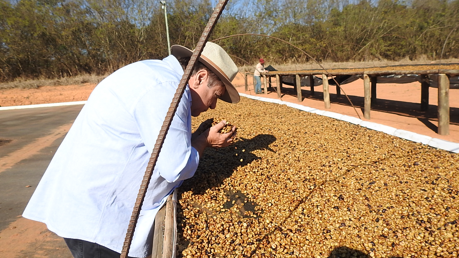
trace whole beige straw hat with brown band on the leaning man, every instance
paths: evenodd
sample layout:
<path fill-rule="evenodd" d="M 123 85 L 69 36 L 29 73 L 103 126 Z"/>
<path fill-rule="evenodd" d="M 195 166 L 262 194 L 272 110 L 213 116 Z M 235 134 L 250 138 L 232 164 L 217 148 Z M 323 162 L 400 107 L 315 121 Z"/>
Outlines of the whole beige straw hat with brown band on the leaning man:
<path fill-rule="evenodd" d="M 171 46 L 171 53 L 177 59 L 182 57 L 189 57 L 193 54 L 193 50 L 190 50 L 181 45 Z M 237 74 L 237 66 L 229 57 L 223 48 L 215 43 L 207 42 L 202 50 L 202 54 L 199 57 L 199 62 L 202 62 L 207 68 L 209 68 L 218 78 L 223 82 L 226 87 L 225 93 L 220 97 L 222 101 L 229 103 L 239 102 L 239 93 L 236 88 L 231 84 Z"/>

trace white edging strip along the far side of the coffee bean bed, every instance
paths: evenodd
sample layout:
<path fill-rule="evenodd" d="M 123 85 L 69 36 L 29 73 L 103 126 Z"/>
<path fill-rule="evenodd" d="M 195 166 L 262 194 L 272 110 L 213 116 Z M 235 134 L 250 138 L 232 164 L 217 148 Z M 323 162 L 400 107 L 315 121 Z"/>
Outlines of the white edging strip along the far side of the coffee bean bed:
<path fill-rule="evenodd" d="M 459 153 L 459 143 L 451 142 L 451 141 L 448 141 L 448 140 L 441 140 L 441 139 L 437 139 L 437 138 L 432 138 L 432 137 L 427 136 L 427 135 L 420 135 L 420 134 L 413 133 L 413 132 L 410 132 L 410 131 L 406 131 L 406 130 L 397 129 L 397 128 L 394 128 L 394 127 L 391 127 L 391 126 L 387 126 L 387 125 L 384 125 L 384 124 L 373 123 L 373 122 L 369 122 L 369 121 L 363 121 L 362 119 L 354 118 L 354 117 L 351 117 L 351 116 L 342 115 L 342 114 L 339 114 L 339 113 L 320 110 L 320 109 L 315 109 L 315 108 L 312 108 L 312 107 L 306 107 L 306 106 L 303 106 L 303 105 L 299 105 L 299 104 L 291 103 L 291 102 L 287 102 L 287 101 L 280 101 L 278 99 L 270 99 L 270 98 L 265 98 L 265 97 L 260 97 L 260 96 L 252 96 L 252 95 L 247 95 L 247 94 L 244 94 L 244 93 L 239 93 L 239 95 L 244 96 L 244 97 L 249 98 L 249 99 L 253 99 L 253 100 L 277 103 L 277 104 L 280 104 L 280 105 L 286 105 L 288 107 L 293 107 L 293 108 L 296 108 L 296 109 L 299 109 L 299 110 L 302 110 L 302 111 L 315 113 L 315 114 L 318 114 L 318 115 L 321 115 L 321 116 L 326 116 L 326 117 L 329 117 L 329 118 L 335 118 L 335 119 L 346 121 L 346 122 L 353 123 L 353 124 L 358 124 L 360 126 L 368 128 L 368 129 L 373 129 L 375 131 L 380 131 L 380 132 L 386 133 L 388 135 L 396 136 L 396 137 L 403 138 L 403 139 L 406 139 L 406 140 L 411 140 L 411 141 L 414 141 L 414 142 L 420 142 L 422 144 L 429 145 L 429 146 L 432 146 L 434 148 L 438 148 L 438 149 L 442 149 L 442 150 L 446 150 L 446 151 L 451 151 L 451 152 L 454 152 L 454 153 Z"/>

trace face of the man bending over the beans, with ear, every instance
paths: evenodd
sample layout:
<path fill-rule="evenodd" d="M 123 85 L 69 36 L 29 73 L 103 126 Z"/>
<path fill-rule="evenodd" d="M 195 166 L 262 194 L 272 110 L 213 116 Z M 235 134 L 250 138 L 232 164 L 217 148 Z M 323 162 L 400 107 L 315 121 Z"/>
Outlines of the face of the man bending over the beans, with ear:
<path fill-rule="evenodd" d="M 223 84 L 209 88 L 207 86 L 208 80 L 208 72 L 200 70 L 188 81 L 191 90 L 191 115 L 193 117 L 199 116 L 209 108 L 214 109 L 217 105 L 217 99 L 225 93 L 226 88 L 222 86 Z"/>

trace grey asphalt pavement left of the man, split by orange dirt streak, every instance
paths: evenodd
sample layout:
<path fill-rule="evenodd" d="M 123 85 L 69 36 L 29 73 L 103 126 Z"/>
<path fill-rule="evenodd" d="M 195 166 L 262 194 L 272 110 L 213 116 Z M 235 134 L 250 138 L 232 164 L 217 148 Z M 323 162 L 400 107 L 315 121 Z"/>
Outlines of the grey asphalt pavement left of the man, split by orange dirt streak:
<path fill-rule="evenodd" d="M 0 111 L 0 139 L 11 140 L 0 146 L 0 157 L 50 134 L 59 126 L 72 123 L 82 107 L 74 105 Z M 0 230 L 22 214 L 64 136 L 0 173 Z"/>

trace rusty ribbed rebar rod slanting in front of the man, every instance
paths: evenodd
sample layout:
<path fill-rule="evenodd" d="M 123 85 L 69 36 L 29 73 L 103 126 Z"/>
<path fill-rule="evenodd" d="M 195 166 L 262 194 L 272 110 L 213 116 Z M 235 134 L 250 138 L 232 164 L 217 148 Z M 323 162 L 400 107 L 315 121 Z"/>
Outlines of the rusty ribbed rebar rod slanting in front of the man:
<path fill-rule="evenodd" d="M 137 199 L 135 200 L 134 209 L 132 211 L 131 219 L 129 221 L 128 230 L 126 232 L 126 237 L 124 239 L 123 250 L 121 251 L 120 258 L 126 258 L 129 253 L 129 248 L 131 246 L 132 237 L 134 236 L 135 225 L 137 224 L 137 219 L 139 219 L 140 209 L 142 207 L 142 203 L 145 199 L 146 190 L 148 188 L 148 184 L 150 183 L 151 174 L 153 173 L 153 169 L 155 168 L 159 152 L 161 151 L 162 144 L 164 143 L 164 139 L 168 133 L 168 129 L 172 123 L 172 119 L 174 118 L 174 114 L 177 111 L 177 107 L 179 106 L 180 99 L 185 91 L 186 85 L 188 84 L 188 80 L 190 80 L 191 72 L 193 71 L 196 61 L 198 60 L 199 56 L 201 56 L 202 50 L 207 43 L 207 40 L 210 37 L 210 34 L 215 27 L 215 24 L 218 21 L 218 18 L 222 14 L 224 7 L 226 6 L 228 0 L 219 0 L 217 6 L 214 8 L 212 16 L 207 22 L 206 28 L 202 32 L 201 38 L 199 39 L 196 48 L 193 52 L 193 55 L 190 58 L 190 62 L 186 66 L 185 72 L 180 80 L 179 87 L 175 92 L 174 98 L 172 99 L 171 105 L 168 109 L 166 114 L 166 118 L 162 123 L 161 130 L 159 132 L 158 138 L 155 143 L 155 147 L 151 153 L 150 160 L 146 167 L 145 175 L 142 179 L 142 183 L 140 185 L 139 194 L 137 195 Z"/>

